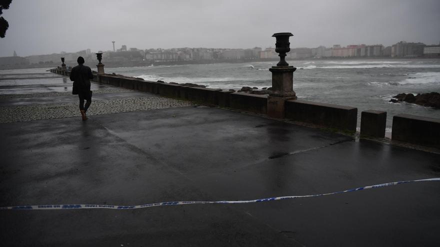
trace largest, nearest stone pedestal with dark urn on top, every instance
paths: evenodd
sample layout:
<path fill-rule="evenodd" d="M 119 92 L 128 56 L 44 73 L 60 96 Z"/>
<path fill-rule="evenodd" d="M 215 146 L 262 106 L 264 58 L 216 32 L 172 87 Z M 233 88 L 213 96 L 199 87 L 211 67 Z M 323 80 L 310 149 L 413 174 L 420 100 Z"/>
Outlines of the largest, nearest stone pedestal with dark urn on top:
<path fill-rule="evenodd" d="M 274 33 L 276 38 L 275 52 L 279 53 L 279 62 L 276 66 L 269 68 L 272 72 L 272 90 L 267 97 L 267 115 L 274 118 L 284 118 L 284 104 L 286 100 L 296 99 L 293 91 L 293 66 L 288 66 L 285 61 L 286 52 L 290 51 L 289 37 L 293 36 L 290 32 Z"/>

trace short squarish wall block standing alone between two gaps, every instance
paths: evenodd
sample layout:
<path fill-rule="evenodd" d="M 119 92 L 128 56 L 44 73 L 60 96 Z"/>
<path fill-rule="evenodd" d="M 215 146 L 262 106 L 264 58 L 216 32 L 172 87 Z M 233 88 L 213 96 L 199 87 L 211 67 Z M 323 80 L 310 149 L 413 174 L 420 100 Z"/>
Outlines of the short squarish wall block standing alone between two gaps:
<path fill-rule="evenodd" d="M 367 110 L 360 114 L 360 135 L 385 137 L 386 111 Z"/>

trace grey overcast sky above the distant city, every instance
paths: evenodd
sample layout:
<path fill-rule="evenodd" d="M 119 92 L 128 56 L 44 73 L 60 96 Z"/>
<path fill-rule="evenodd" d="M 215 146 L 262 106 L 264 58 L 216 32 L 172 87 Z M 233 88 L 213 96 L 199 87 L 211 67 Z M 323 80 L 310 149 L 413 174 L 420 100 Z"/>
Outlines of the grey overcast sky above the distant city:
<path fill-rule="evenodd" d="M 438 44 L 440 0 L 12 0 L 0 56 L 90 48 Z"/>

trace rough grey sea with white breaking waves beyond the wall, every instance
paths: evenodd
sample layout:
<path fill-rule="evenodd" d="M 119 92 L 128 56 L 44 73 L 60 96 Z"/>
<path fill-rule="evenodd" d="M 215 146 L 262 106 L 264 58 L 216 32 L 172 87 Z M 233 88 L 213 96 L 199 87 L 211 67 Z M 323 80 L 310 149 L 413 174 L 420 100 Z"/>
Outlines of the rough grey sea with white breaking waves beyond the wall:
<path fill-rule="evenodd" d="M 295 60 L 293 89 L 299 99 L 387 112 L 387 131 L 392 116 L 405 113 L 440 119 L 440 109 L 410 103 L 390 103 L 398 93 L 440 92 L 440 59 Z M 177 83 L 203 84 L 210 88 L 270 87 L 268 70 L 276 62 L 160 65 L 105 68 L 106 73 Z M 89 65 L 90 66 L 90 65 Z M 93 67 L 94 66 L 90 66 Z M 42 69 L 0 71 L 30 73 Z"/>

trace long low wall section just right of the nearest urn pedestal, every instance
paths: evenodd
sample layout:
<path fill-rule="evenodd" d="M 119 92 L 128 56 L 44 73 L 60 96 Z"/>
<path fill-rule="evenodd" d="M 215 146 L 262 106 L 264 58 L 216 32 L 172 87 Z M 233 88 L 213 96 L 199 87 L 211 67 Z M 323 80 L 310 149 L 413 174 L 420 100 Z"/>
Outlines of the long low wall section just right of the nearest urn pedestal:
<path fill-rule="evenodd" d="M 356 131 L 357 108 L 305 100 L 287 100 L 285 118 L 342 131 Z"/>

